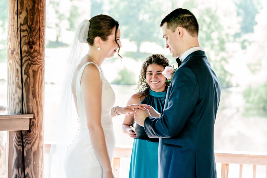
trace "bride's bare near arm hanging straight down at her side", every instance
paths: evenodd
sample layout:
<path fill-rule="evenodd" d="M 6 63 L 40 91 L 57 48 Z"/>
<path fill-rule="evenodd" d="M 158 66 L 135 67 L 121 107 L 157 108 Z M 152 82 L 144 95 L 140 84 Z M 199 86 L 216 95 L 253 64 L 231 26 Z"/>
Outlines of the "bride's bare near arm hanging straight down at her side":
<path fill-rule="evenodd" d="M 112 176 L 104 131 L 101 125 L 101 79 L 95 65 L 87 65 L 81 77 L 81 89 L 90 139 L 104 174 Z"/>

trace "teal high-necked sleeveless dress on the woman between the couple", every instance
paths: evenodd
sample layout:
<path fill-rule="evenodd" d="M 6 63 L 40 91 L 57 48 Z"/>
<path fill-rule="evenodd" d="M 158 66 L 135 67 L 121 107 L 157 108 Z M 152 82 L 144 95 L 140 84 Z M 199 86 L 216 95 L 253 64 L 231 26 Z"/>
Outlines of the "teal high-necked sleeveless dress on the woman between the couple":
<path fill-rule="evenodd" d="M 162 113 L 166 91 L 149 94 L 140 102 L 155 108 Z M 131 156 L 129 178 L 158 178 L 158 147 L 159 142 L 134 139 Z"/>

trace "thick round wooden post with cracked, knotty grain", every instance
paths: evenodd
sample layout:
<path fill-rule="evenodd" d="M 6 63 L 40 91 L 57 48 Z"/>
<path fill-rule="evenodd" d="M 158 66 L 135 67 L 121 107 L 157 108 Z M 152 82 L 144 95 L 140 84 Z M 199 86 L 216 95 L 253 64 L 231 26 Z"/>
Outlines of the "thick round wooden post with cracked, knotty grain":
<path fill-rule="evenodd" d="M 33 113 L 10 131 L 7 177 L 43 177 L 45 0 L 8 0 L 7 112 Z"/>

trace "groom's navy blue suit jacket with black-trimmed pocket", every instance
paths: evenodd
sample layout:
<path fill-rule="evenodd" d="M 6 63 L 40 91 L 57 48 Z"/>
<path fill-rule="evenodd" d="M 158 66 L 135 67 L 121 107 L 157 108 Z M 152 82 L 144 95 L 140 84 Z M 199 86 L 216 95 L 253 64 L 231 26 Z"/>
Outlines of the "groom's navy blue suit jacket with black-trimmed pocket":
<path fill-rule="evenodd" d="M 159 177 L 217 177 L 214 122 L 221 95 L 206 54 L 187 56 L 174 73 L 162 117 L 147 117 L 145 131 L 159 139 Z"/>

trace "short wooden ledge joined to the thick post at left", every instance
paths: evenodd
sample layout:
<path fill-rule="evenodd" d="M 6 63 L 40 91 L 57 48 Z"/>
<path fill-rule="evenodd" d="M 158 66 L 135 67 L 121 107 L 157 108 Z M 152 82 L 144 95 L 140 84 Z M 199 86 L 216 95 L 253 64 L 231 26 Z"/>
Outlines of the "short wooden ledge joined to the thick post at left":
<path fill-rule="evenodd" d="M 29 130 L 33 114 L 0 114 L 0 131 Z"/>

